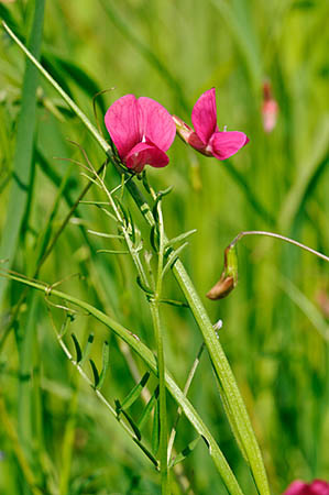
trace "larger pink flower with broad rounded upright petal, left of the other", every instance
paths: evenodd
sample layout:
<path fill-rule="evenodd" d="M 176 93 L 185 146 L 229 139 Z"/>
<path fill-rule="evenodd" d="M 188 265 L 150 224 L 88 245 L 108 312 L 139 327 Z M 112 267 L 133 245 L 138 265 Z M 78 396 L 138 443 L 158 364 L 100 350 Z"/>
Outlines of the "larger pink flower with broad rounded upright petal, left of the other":
<path fill-rule="evenodd" d="M 151 98 L 125 95 L 108 109 L 105 123 L 122 162 L 136 173 L 164 167 L 176 128 L 172 116 Z"/>

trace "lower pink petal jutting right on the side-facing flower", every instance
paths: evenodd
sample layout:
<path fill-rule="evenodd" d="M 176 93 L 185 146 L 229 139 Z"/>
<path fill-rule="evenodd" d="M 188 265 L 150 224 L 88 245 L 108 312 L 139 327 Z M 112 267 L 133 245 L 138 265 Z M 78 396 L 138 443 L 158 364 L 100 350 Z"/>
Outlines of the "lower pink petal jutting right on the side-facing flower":
<path fill-rule="evenodd" d="M 243 132 L 216 132 L 210 139 L 209 150 L 216 158 L 227 160 L 234 155 L 248 142 L 249 139 Z"/>

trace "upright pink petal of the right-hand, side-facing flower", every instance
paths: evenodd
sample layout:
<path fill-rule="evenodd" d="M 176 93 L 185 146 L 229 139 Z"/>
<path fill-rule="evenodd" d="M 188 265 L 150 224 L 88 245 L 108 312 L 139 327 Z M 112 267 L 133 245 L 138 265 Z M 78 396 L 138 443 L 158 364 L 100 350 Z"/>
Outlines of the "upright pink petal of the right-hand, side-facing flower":
<path fill-rule="evenodd" d="M 191 122 L 200 140 L 204 144 L 208 144 L 211 135 L 217 131 L 215 88 L 208 89 L 197 100 L 191 111 Z"/>

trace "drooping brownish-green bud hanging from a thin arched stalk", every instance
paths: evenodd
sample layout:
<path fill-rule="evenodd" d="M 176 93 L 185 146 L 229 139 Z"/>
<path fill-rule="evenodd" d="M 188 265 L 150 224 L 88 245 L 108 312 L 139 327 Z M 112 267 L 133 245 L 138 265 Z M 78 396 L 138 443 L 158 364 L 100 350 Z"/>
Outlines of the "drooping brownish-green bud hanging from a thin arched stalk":
<path fill-rule="evenodd" d="M 227 297 L 238 284 L 238 256 L 235 245 L 224 250 L 224 267 L 218 283 L 209 290 L 207 297 L 212 300 Z"/>

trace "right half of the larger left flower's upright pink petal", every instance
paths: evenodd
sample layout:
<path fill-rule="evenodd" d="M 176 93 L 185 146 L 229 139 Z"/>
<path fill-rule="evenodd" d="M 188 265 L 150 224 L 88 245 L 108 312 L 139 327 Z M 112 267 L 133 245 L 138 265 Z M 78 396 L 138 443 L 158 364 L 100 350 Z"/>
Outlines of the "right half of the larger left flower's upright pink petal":
<path fill-rule="evenodd" d="M 152 141 L 160 150 L 167 151 L 176 134 L 176 125 L 172 116 L 162 105 L 151 98 L 141 97 L 138 102 L 143 141 Z"/>

